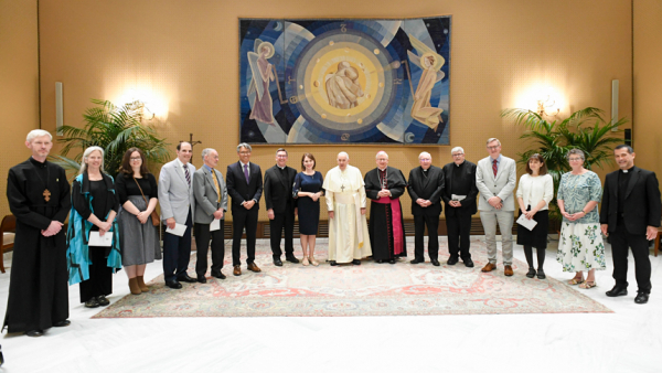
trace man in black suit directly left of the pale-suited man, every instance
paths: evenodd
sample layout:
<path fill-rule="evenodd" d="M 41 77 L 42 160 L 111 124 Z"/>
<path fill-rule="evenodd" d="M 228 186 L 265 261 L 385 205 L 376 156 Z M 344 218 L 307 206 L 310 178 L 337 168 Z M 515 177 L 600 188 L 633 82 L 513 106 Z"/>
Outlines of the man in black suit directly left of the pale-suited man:
<path fill-rule="evenodd" d="M 446 228 L 448 231 L 448 265 L 452 266 L 462 258 L 467 267 L 473 267 L 469 253 L 471 215 L 478 211 L 476 198 L 476 164 L 465 160 L 465 149 L 455 147 L 450 151 L 452 162 L 444 166 L 444 194 L 446 204 Z"/>

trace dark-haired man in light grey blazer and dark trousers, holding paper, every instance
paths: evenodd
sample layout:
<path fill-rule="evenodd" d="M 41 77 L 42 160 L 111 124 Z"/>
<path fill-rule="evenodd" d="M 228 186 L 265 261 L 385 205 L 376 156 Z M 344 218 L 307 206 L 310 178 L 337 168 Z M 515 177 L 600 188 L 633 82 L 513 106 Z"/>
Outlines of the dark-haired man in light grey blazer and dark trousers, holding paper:
<path fill-rule="evenodd" d="M 174 230 L 175 224 L 185 225 L 182 236 L 166 232 L 163 236 L 163 277 L 166 286 L 181 289 L 180 281 L 195 283 L 186 274 L 191 258 L 191 228 L 195 211 L 193 198 L 193 172 L 195 167 L 191 160 L 193 148 L 189 142 L 177 146 L 177 159 L 163 164 L 159 175 L 159 204 L 161 204 L 161 220 L 166 221 L 169 228 Z"/>

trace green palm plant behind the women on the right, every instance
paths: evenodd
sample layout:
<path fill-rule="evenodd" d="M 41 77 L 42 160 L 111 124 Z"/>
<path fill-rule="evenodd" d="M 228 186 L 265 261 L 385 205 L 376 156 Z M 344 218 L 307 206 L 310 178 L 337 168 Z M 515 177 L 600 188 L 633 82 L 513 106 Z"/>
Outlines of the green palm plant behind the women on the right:
<path fill-rule="evenodd" d="M 554 179 L 556 195 L 560 175 L 570 171 L 566 159 L 568 150 L 583 150 L 586 156 L 584 167 L 589 170 L 613 164 L 613 146 L 623 142 L 622 138 L 613 136 L 620 132 L 615 129 L 628 120 L 621 118 L 611 122 L 604 119 L 604 114 L 601 109 L 587 107 L 573 113 L 566 119 L 547 121 L 535 111 L 511 108 L 501 111 L 501 117 L 514 119 L 516 125 L 525 127 L 526 130 L 520 138 L 531 141 L 528 149 L 517 153 L 517 163 L 526 164 L 531 156 L 541 154 Z M 562 220 L 556 199 L 552 200 L 549 217 L 555 222 Z"/>

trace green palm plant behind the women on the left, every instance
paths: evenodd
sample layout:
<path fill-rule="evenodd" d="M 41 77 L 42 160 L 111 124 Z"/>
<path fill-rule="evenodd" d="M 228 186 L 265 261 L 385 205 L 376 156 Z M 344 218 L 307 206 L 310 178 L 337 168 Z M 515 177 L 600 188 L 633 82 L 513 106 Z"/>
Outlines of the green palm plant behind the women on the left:
<path fill-rule="evenodd" d="M 53 156 L 53 162 L 62 166 L 74 174 L 81 168 L 81 158 L 85 149 L 92 146 L 105 150 L 104 168 L 115 177 L 121 167 L 121 160 L 127 150 L 139 148 L 145 152 L 148 167 L 167 162 L 170 153 L 169 143 L 157 136 L 157 130 L 143 124 L 143 107 L 141 102 L 132 102 L 116 106 L 108 100 L 92 99 L 97 105 L 85 110 L 83 128 L 63 126 L 64 137 L 58 139 L 65 146 L 61 156 Z M 74 158 L 68 158 L 71 151 L 76 151 Z"/>

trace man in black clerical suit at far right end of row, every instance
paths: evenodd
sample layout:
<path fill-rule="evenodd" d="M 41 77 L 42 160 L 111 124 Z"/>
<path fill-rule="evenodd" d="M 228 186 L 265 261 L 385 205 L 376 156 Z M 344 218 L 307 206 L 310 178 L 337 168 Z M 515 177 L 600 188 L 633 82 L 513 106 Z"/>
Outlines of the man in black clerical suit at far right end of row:
<path fill-rule="evenodd" d="M 628 295 L 628 247 L 632 248 L 637 277 L 634 302 L 648 302 L 651 292 L 651 260 L 649 239 L 655 238 L 662 202 L 654 172 L 634 167 L 634 151 L 627 145 L 613 150 L 620 170 L 607 174 L 600 224 L 605 235 L 610 236 L 616 286 L 608 297 Z"/>

